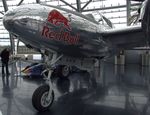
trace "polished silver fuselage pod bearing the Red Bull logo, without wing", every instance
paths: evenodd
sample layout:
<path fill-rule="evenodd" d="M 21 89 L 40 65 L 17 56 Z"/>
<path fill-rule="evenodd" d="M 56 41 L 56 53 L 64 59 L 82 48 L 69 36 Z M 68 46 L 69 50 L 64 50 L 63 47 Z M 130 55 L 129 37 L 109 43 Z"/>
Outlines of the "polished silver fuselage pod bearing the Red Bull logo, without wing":
<path fill-rule="evenodd" d="M 58 21 L 56 23 L 52 19 L 49 21 L 53 10 L 60 13 L 56 15 L 59 19 L 53 18 L 53 21 Z M 70 10 L 39 4 L 25 5 L 7 12 L 3 21 L 8 31 L 38 49 L 76 57 L 104 57 L 111 52 L 110 44 L 100 36 L 104 27 Z"/>

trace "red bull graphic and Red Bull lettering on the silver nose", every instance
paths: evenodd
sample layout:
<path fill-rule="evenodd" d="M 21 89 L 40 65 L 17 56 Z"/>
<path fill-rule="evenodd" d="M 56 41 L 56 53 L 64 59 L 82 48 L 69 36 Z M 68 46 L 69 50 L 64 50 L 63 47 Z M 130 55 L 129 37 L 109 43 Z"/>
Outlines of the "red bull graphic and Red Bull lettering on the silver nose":
<path fill-rule="evenodd" d="M 75 34 L 71 31 L 69 24 L 70 21 L 60 12 L 57 10 L 52 10 L 48 14 L 47 22 L 54 26 L 59 26 L 60 29 L 56 30 L 55 28 L 46 24 L 43 26 L 43 30 L 41 32 L 42 37 L 49 40 L 61 41 L 69 45 L 78 44 L 80 38 L 79 34 Z M 64 28 L 66 28 L 66 30 Z"/>

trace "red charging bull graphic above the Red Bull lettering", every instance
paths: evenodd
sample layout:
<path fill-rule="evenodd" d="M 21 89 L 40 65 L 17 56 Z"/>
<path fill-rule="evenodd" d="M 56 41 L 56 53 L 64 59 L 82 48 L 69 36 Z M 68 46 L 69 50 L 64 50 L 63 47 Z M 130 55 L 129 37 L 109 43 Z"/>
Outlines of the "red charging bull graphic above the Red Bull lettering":
<path fill-rule="evenodd" d="M 64 17 L 60 12 L 58 12 L 57 10 L 52 10 L 48 14 L 47 21 L 55 26 L 59 26 L 59 25 L 63 24 L 63 26 L 66 29 L 71 31 L 70 24 L 69 24 L 70 21 L 66 17 Z"/>

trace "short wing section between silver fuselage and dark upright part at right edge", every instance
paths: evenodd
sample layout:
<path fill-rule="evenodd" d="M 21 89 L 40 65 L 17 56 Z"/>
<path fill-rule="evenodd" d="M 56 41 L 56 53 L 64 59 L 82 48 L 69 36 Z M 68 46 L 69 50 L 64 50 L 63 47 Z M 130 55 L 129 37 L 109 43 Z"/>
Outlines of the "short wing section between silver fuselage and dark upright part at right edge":
<path fill-rule="evenodd" d="M 141 25 L 130 26 L 123 29 L 110 29 L 102 32 L 104 40 L 121 49 L 142 47 L 146 39 Z"/>

